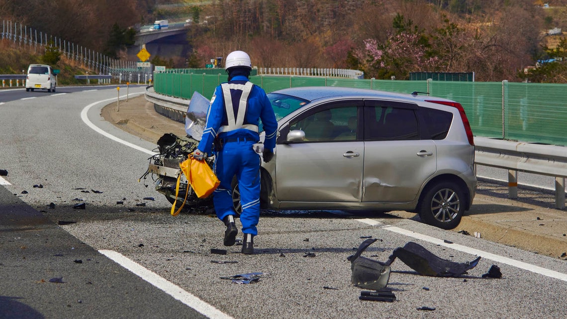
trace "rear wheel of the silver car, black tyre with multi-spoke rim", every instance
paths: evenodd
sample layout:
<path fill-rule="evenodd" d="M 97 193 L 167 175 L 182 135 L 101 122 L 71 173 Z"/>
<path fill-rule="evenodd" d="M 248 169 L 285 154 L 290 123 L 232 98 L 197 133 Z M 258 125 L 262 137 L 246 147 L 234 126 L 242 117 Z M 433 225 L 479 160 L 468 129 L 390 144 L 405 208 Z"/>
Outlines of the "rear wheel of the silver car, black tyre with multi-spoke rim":
<path fill-rule="evenodd" d="M 459 225 L 465 207 L 465 193 L 454 182 L 441 182 L 429 187 L 420 203 L 421 219 L 429 225 L 453 229 Z"/>

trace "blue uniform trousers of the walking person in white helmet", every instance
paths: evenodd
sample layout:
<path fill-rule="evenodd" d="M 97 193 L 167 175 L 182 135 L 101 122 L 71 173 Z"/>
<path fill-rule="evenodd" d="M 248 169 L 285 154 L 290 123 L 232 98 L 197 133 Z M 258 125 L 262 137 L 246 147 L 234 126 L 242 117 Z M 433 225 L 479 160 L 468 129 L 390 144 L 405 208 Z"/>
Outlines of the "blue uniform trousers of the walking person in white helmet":
<path fill-rule="evenodd" d="M 214 191 L 213 203 L 217 217 L 223 220 L 235 215 L 232 205 L 232 177 L 236 175 L 240 191 L 240 223 L 242 232 L 256 236 L 260 219 L 260 156 L 254 152 L 253 141 L 231 141 L 223 145 L 215 159 L 215 173 L 221 184 Z"/>

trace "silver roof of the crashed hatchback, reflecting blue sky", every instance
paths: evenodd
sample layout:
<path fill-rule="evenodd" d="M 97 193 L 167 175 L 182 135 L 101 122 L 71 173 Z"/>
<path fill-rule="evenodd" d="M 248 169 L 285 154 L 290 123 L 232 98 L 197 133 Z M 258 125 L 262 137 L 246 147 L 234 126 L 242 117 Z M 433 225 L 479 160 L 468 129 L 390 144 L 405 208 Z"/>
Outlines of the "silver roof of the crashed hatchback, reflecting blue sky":
<path fill-rule="evenodd" d="M 393 93 L 379 90 L 358 89 L 353 87 L 337 87 L 337 86 L 303 86 L 291 87 L 273 91 L 272 93 L 296 96 L 300 99 L 314 101 L 323 98 L 352 97 L 352 98 L 386 98 L 386 99 L 404 99 L 407 101 L 423 101 L 426 99 L 435 99 L 443 101 L 451 101 L 444 98 L 437 98 L 428 95 L 412 95 L 404 93 Z"/>

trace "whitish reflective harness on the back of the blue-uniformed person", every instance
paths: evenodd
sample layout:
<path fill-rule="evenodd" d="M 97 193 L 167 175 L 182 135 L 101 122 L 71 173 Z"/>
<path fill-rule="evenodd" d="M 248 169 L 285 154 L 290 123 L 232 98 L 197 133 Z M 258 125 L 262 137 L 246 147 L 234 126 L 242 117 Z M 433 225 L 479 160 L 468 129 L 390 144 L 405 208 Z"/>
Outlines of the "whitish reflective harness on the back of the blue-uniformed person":
<path fill-rule="evenodd" d="M 258 126 L 253 124 L 243 124 L 244 117 L 246 116 L 246 106 L 248 102 L 248 95 L 252 92 L 252 87 L 254 85 L 252 82 L 246 82 L 246 84 L 236 84 L 236 83 L 222 83 L 222 95 L 225 99 L 225 111 L 226 117 L 229 125 L 223 125 L 219 129 L 219 133 L 230 132 L 235 129 L 244 128 L 250 131 L 258 132 Z M 230 95 L 230 90 L 240 90 L 242 95 L 240 95 L 240 100 L 238 104 L 238 114 L 236 119 L 234 118 L 234 109 L 232 108 L 232 96 Z"/>

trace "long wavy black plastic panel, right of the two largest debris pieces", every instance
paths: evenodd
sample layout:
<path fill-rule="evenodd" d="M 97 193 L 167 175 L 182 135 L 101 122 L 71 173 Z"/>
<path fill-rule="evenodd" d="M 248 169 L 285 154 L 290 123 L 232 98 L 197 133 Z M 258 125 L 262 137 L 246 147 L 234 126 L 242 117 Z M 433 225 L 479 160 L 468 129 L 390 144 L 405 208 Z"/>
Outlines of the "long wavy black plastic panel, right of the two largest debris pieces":
<path fill-rule="evenodd" d="M 415 242 L 408 242 L 404 247 L 396 248 L 390 256 L 388 265 L 395 258 L 399 258 L 405 265 L 408 265 L 420 275 L 437 277 L 458 277 L 466 274 L 467 270 L 476 267 L 480 260 L 480 257 L 478 257 L 471 262 L 465 263 L 447 261 L 437 257 L 431 251 Z"/>

